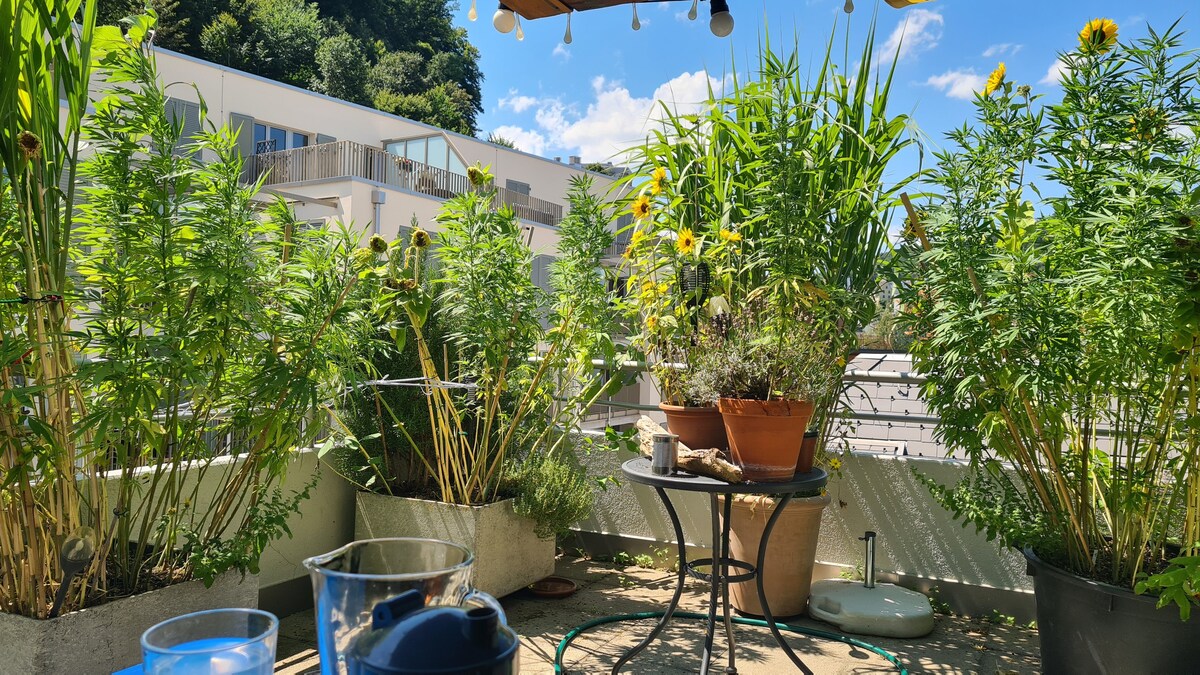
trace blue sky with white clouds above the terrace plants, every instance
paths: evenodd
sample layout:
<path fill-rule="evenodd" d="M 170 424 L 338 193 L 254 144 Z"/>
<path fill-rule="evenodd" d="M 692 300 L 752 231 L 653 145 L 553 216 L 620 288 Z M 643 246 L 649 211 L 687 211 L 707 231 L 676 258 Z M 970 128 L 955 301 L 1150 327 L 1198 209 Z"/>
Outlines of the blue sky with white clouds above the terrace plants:
<path fill-rule="evenodd" d="M 766 26 L 773 43 L 791 44 L 796 36 L 803 62 L 812 64 L 834 22 L 846 25 L 845 0 L 730 0 L 737 25 L 719 38 L 708 30 L 708 2 L 689 22 L 691 2 L 682 0 L 640 4 L 638 31 L 630 25 L 632 10 L 622 6 L 575 13 L 571 44 L 563 43 L 562 16 L 522 22 L 518 42 L 492 28 L 494 1 L 478 0 L 476 22 L 467 19 L 470 0 L 460 1 L 456 22 L 482 54 L 482 133 L 497 131 L 528 153 L 584 161 L 610 160 L 643 138 L 655 100 L 686 109 L 734 59 L 744 72 Z M 850 26 L 860 48 L 876 0 L 856 5 Z M 1198 0 L 934 0 L 905 10 L 878 0 L 876 41 L 889 61 L 904 36 L 890 112 L 911 114 L 940 145 L 944 131 L 971 118 L 971 92 L 1000 61 L 1010 80 L 1054 96 L 1056 55 L 1093 17 L 1117 22 L 1122 40 L 1146 35 L 1147 23 L 1162 30 L 1182 17 L 1187 46 L 1200 48 Z M 916 166 L 914 157 L 908 162 Z"/>

